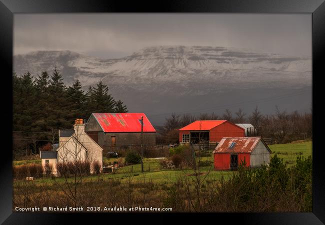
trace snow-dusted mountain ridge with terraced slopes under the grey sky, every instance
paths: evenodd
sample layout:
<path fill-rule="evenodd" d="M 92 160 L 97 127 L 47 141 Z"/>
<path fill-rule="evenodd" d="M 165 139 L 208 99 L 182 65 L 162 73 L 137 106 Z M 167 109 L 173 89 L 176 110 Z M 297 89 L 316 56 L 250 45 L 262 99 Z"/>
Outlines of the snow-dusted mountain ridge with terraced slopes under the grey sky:
<path fill-rule="evenodd" d="M 215 104 L 215 100 L 208 99 L 222 95 L 228 96 L 229 101 L 231 95 L 240 92 L 263 96 L 276 90 L 285 94 L 311 86 L 310 58 L 230 47 L 152 46 L 115 59 L 71 51 L 35 51 L 14 56 L 17 74 L 26 70 L 32 74 L 50 72 L 54 66 L 63 74 L 66 84 L 78 78 L 86 89 L 102 80 L 113 95 L 134 110 L 143 108 L 134 103 L 136 97 L 149 104 L 147 108 L 159 102 L 183 111 L 186 105 L 179 101 L 196 104 L 199 102 L 194 99 L 198 96 L 204 96 L 197 98 L 199 101 Z M 236 94 L 234 98 L 243 95 Z"/>

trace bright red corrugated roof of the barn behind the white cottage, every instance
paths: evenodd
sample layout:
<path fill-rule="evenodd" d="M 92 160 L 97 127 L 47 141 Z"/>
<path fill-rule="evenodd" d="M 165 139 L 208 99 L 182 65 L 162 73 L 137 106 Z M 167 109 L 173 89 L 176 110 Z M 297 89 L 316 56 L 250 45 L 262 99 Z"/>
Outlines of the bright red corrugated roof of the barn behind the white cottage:
<path fill-rule="evenodd" d="M 144 113 L 92 113 L 104 132 L 155 132 Z"/>

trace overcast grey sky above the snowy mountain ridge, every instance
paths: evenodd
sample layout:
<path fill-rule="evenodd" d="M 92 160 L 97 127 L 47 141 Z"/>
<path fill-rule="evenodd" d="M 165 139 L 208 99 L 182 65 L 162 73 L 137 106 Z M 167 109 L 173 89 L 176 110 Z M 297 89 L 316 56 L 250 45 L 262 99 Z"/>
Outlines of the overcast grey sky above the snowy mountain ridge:
<path fill-rule="evenodd" d="M 71 50 L 113 58 L 181 44 L 311 57 L 311 14 L 14 14 L 13 34 L 14 54 Z"/>

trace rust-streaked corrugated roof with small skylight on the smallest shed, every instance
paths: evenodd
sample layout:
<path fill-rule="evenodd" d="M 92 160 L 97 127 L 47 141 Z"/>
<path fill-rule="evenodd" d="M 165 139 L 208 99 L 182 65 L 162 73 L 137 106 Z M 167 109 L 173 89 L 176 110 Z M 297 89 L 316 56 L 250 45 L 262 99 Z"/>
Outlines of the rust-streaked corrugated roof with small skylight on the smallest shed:
<path fill-rule="evenodd" d="M 260 136 L 249 136 L 249 137 L 223 137 L 218 145 L 215 147 L 213 153 L 218 152 L 234 152 L 234 153 L 249 153 L 251 152 L 258 141 L 261 140 Z M 229 148 L 231 143 L 234 143 L 232 148 Z M 269 150 L 267 145 L 266 148 Z"/>

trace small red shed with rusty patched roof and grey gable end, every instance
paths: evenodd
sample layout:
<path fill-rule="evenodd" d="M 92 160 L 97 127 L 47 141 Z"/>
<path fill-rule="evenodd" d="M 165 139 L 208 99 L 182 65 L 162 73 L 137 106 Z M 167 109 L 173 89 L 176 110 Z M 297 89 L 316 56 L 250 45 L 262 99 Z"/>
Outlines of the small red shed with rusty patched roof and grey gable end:
<path fill-rule="evenodd" d="M 258 167 L 269 163 L 270 153 L 260 136 L 223 137 L 213 151 L 214 169 L 236 169 L 243 161 L 246 166 Z"/>

